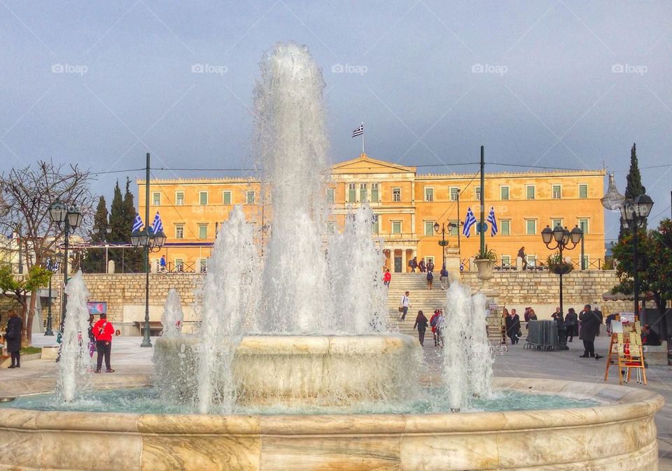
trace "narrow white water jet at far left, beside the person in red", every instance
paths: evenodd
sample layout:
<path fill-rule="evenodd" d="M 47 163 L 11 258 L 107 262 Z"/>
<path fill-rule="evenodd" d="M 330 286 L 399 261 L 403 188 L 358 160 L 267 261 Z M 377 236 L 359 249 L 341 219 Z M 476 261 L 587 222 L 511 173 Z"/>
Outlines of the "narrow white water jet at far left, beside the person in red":
<path fill-rule="evenodd" d="M 89 291 L 81 271 L 68 282 L 66 317 L 63 326 L 61 356 L 58 363 L 56 391 L 62 400 L 70 402 L 85 386 L 89 366 L 89 311 L 86 302 Z"/>

